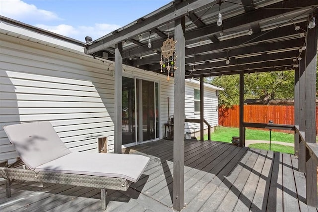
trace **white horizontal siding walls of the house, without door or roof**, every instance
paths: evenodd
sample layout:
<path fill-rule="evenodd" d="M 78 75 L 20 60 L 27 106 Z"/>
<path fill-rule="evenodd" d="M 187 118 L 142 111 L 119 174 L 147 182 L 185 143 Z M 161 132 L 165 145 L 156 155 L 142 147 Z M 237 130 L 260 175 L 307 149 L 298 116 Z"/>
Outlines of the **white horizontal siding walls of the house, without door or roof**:
<path fill-rule="evenodd" d="M 100 137 L 107 137 L 108 150 L 113 150 L 113 62 L 4 34 L 0 50 L 0 161 L 17 157 L 2 126 L 20 122 L 49 120 L 72 151 L 97 152 Z M 173 115 L 173 78 L 167 81 L 166 76 L 133 67 L 124 67 L 123 76 L 159 82 L 159 138 L 163 138 L 167 97 Z M 194 87 L 199 88 L 186 83 L 187 118 L 199 118 L 194 115 Z M 214 104 L 215 90 L 207 89 L 205 116 L 211 125 L 218 123 Z M 199 129 L 199 124 L 189 126 Z"/>

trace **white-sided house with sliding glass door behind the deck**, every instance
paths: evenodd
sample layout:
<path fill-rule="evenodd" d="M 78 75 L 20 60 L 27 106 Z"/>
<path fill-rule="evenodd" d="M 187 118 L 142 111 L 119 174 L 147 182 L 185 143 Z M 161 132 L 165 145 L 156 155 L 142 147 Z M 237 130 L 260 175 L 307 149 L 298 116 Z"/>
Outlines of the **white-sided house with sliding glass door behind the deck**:
<path fill-rule="evenodd" d="M 3 16 L 0 33 L 0 161 L 17 157 L 3 125 L 42 120 L 52 123 L 72 151 L 101 151 L 105 139 L 104 147 L 113 151 L 114 62 L 85 55 L 80 41 Z M 186 80 L 186 118 L 200 117 L 199 87 L 198 81 Z M 173 78 L 124 66 L 123 144 L 164 137 L 168 97 L 173 115 L 173 89 Z M 204 116 L 211 126 L 218 124 L 219 90 L 205 83 Z M 199 123 L 187 127 L 200 129 Z"/>

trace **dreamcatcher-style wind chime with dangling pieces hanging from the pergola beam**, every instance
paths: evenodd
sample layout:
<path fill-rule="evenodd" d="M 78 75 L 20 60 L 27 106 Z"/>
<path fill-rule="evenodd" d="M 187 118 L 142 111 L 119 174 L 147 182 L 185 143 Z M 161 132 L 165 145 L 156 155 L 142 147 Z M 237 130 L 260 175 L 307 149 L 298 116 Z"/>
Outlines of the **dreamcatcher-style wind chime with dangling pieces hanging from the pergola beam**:
<path fill-rule="evenodd" d="M 161 47 L 161 73 L 167 71 L 167 81 L 170 81 L 170 75 L 173 76 L 173 71 L 177 69 L 175 66 L 175 58 L 177 57 L 175 54 L 175 43 L 176 41 L 173 38 L 169 38 L 168 35 L 168 38 L 163 42 Z"/>

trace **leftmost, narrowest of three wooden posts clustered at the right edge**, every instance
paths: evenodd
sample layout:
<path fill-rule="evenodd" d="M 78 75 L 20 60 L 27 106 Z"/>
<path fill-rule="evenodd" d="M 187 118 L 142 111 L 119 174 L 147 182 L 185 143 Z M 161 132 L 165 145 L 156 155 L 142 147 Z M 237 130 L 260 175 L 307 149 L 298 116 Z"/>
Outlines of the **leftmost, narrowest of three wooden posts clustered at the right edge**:
<path fill-rule="evenodd" d="M 294 125 L 299 126 L 299 67 L 294 72 Z M 294 135 L 294 154 L 298 156 L 299 134 L 295 131 Z"/>

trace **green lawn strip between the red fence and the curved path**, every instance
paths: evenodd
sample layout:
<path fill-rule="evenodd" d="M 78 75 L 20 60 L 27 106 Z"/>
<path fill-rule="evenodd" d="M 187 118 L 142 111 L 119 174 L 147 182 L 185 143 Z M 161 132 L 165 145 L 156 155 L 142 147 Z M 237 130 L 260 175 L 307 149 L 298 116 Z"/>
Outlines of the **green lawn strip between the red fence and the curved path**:
<path fill-rule="evenodd" d="M 232 136 L 239 136 L 239 128 L 218 126 L 215 128 L 215 131 L 211 133 L 211 140 L 231 143 Z M 207 140 L 207 139 L 208 139 L 208 135 L 204 135 L 204 140 Z M 269 130 L 264 131 L 264 130 L 246 129 L 246 140 L 250 140 L 250 139 L 269 141 Z M 294 143 L 294 134 L 272 131 L 272 141 Z"/>

